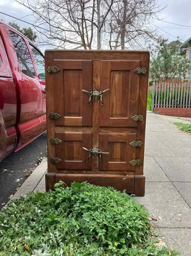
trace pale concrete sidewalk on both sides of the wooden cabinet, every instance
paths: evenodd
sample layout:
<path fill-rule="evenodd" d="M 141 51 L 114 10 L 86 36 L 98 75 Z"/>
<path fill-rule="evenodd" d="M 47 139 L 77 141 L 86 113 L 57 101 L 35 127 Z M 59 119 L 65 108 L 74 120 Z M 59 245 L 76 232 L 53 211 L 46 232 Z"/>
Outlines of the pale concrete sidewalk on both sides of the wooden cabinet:
<path fill-rule="evenodd" d="M 191 123 L 191 118 L 147 113 L 145 138 L 145 197 L 143 204 L 161 240 L 181 255 L 191 256 L 191 135 L 182 133 L 173 122 Z M 11 199 L 29 191 L 45 191 L 46 159 Z"/>

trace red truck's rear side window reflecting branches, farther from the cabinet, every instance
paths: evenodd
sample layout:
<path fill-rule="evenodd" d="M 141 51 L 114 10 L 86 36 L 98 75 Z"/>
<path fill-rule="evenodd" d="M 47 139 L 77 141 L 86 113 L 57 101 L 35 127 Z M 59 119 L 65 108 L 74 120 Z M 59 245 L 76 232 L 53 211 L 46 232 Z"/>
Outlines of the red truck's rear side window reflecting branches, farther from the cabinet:
<path fill-rule="evenodd" d="M 21 71 L 23 74 L 34 78 L 35 72 L 33 61 L 30 57 L 30 53 L 24 39 L 13 31 L 9 31 L 9 33 L 16 51 Z"/>

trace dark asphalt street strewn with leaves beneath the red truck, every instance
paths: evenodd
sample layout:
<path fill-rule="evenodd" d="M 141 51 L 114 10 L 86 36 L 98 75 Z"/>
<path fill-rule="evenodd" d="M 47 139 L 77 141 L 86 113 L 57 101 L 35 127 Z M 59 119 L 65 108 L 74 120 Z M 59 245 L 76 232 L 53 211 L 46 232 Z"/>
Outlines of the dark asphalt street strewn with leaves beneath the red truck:
<path fill-rule="evenodd" d="M 0 209 L 46 157 L 46 133 L 0 163 Z"/>

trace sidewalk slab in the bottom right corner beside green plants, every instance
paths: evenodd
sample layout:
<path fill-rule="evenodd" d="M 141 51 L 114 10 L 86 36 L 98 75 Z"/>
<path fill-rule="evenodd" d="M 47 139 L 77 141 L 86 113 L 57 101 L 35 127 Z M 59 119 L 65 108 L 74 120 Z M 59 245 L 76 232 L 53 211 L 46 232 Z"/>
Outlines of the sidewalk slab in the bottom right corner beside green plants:
<path fill-rule="evenodd" d="M 163 234 L 160 239 L 168 244 L 169 249 L 175 249 L 181 256 L 191 256 L 191 229 L 156 229 Z"/>

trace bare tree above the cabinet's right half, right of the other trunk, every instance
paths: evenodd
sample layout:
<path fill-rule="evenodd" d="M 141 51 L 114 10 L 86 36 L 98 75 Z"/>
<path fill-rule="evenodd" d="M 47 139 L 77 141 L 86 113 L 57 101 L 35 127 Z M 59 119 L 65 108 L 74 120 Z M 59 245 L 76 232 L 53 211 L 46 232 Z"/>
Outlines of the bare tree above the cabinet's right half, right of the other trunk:
<path fill-rule="evenodd" d="M 110 23 L 110 49 L 145 48 L 148 41 L 158 41 L 158 30 L 150 26 L 157 17 L 159 6 L 156 0 L 120 0 L 112 6 Z"/>

